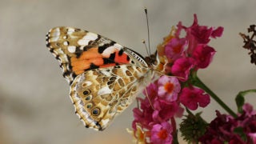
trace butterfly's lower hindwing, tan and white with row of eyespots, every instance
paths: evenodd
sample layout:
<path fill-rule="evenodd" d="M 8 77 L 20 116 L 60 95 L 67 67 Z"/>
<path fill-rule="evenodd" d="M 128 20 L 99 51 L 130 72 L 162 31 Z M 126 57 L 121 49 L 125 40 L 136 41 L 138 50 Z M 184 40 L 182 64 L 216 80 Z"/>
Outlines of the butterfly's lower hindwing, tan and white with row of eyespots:
<path fill-rule="evenodd" d="M 104 130 L 142 90 L 148 70 L 135 65 L 87 70 L 71 85 L 70 97 L 86 127 Z"/>

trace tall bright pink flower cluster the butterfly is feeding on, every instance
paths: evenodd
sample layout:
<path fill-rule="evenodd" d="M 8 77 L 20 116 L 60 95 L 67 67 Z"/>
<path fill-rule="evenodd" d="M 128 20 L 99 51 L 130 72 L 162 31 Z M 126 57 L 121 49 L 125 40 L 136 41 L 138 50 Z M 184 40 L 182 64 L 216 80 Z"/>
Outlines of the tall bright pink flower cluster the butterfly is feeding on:
<path fill-rule="evenodd" d="M 181 38 L 183 31 L 185 36 Z M 182 117 L 182 106 L 197 110 L 198 106 L 210 103 L 210 95 L 194 85 L 193 75 L 210 65 L 215 50 L 208 43 L 210 38 L 220 37 L 222 31 L 222 27 L 199 26 L 194 14 L 192 26 L 179 22 L 164 38 L 157 51 L 165 75 L 146 87 L 146 98 L 138 98 L 140 106 L 133 110 L 133 134 L 137 142 L 174 142 L 177 132 L 174 117 Z"/>

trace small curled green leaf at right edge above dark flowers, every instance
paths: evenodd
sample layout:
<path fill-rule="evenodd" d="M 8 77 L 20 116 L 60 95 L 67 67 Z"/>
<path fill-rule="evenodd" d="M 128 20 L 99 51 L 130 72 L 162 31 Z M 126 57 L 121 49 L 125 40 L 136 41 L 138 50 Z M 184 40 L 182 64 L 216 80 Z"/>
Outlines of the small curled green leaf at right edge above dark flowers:
<path fill-rule="evenodd" d="M 256 89 L 240 91 L 235 98 L 235 102 L 238 106 L 238 113 L 242 114 L 242 106 L 245 104 L 245 95 L 249 93 L 256 93 Z"/>

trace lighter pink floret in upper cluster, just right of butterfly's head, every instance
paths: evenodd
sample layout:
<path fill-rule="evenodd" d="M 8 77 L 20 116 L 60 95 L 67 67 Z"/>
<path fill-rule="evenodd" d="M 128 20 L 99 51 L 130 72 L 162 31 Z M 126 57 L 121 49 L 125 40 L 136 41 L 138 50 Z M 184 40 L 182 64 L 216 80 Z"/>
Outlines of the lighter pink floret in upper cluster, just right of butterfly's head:
<path fill-rule="evenodd" d="M 182 52 L 186 46 L 185 38 L 172 38 L 170 42 L 166 44 L 165 54 L 169 59 L 169 62 L 175 61 L 177 58 L 182 57 Z"/>

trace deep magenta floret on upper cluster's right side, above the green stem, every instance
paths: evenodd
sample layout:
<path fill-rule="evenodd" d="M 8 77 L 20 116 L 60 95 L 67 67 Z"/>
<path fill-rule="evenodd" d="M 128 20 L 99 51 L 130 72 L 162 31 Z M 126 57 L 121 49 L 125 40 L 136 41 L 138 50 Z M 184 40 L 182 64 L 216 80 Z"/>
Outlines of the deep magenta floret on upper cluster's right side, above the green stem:
<path fill-rule="evenodd" d="M 197 67 L 204 69 L 209 66 L 215 52 L 214 48 L 210 46 L 197 46 L 193 52 L 193 58 L 195 59 Z"/>

